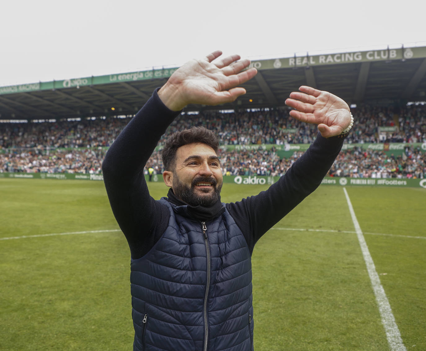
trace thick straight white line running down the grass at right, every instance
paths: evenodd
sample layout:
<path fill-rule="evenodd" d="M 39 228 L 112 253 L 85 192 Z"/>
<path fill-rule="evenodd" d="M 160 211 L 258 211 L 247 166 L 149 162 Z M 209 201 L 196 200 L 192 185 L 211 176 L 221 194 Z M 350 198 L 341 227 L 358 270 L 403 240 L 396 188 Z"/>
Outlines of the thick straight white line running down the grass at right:
<path fill-rule="evenodd" d="M 348 202 L 349 212 L 351 213 L 352 222 L 354 223 L 357 232 L 358 241 L 360 242 L 361 251 L 363 252 L 364 261 L 366 262 L 368 275 L 370 276 L 371 286 L 373 287 L 374 295 L 376 296 L 377 305 L 379 306 L 380 316 L 382 318 L 383 327 L 386 331 L 386 338 L 388 339 L 391 351 L 406 351 L 406 348 L 401 339 L 401 334 L 395 322 L 395 317 L 392 314 L 391 305 L 386 297 L 385 290 L 380 283 L 379 275 L 377 274 L 376 267 L 374 266 L 373 259 L 367 247 L 366 240 L 364 239 L 363 232 L 357 217 L 355 216 L 354 208 L 352 207 L 351 200 L 349 199 L 348 192 L 345 192 L 346 201 Z"/>

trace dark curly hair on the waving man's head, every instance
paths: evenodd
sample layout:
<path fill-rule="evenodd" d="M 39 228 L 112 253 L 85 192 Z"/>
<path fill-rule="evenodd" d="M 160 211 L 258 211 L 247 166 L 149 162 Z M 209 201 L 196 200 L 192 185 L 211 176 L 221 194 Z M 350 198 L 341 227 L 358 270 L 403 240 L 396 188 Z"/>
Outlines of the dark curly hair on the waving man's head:
<path fill-rule="evenodd" d="M 161 158 L 165 170 L 174 170 L 176 167 L 176 151 L 179 147 L 191 144 L 203 143 L 210 146 L 214 152 L 219 149 L 219 139 L 216 134 L 205 127 L 191 127 L 182 131 L 174 132 L 164 143 Z"/>

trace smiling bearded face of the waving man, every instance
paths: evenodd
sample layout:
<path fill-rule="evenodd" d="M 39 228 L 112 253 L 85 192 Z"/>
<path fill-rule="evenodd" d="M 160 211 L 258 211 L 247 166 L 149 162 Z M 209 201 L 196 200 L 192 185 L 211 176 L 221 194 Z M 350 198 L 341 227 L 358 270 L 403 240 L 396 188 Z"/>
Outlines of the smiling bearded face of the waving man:
<path fill-rule="evenodd" d="M 210 207 L 219 199 L 222 172 L 214 150 L 202 143 L 181 146 L 176 151 L 176 167 L 163 173 L 164 182 L 178 199 L 191 206 Z"/>

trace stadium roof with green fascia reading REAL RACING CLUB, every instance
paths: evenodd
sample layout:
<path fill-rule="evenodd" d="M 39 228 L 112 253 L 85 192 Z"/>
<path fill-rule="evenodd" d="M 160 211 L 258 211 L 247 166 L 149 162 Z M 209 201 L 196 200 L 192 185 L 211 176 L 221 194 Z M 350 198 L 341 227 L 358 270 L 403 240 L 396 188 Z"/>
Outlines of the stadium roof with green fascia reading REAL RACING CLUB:
<path fill-rule="evenodd" d="M 247 94 L 219 109 L 283 106 L 290 92 L 314 86 L 348 104 L 426 100 L 426 47 L 255 60 Z M 0 87 L 0 119 L 133 115 L 176 68 Z M 114 108 L 114 110 L 112 110 Z M 187 110 L 211 109 L 188 106 Z M 217 106 L 215 107 L 218 108 Z"/>

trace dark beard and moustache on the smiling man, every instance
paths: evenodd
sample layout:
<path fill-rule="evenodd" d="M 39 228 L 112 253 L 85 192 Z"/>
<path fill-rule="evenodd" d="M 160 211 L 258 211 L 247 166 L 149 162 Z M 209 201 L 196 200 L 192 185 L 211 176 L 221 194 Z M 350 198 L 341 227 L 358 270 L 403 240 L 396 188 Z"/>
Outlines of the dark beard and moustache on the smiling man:
<path fill-rule="evenodd" d="M 195 194 L 195 187 L 197 183 L 211 183 L 213 187 L 213 193 L 210 193 L 208 196 L 197 196 Z M 185 184 L 181 183 L 179 178 L 175 174 L 175 178 L 173 179 L 173 193 L 175 193 L 178 199 L 186 202 L 191 206 L 203 206 L 203 207 L 211 207 L 219 200 L 220 191 L 222 190 L 222 184 L 217 186 L 217 182 L 214 178 L 208 177 L 198 177 L 195 178 L 191 187 L 187 187 Z M 208 193 L 208 189 L 201 189 L 204 193 Z"/>

